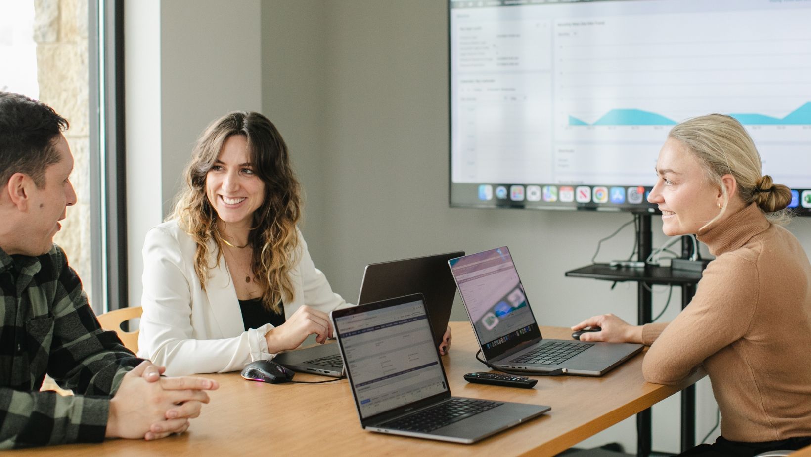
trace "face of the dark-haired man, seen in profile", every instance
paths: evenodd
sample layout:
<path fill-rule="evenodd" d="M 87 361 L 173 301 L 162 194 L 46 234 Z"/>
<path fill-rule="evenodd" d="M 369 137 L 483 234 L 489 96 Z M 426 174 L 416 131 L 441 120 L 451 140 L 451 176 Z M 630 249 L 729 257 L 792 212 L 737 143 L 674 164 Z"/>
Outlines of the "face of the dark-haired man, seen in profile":
<path fill-rule="evenodd" d="M 21 253 L 28 256 L 41 256 L 54 244 L 54 235 L 62 225 L 59 223 L 67 215 L 67 206 L 76 203 L 76 192 L 71 184 L 73 155 L 65 136 L 58 136 L 54 148 L 61 159 L 45 170 L 45 186 L 32 186 L 29 195 L 28 215 L 31 218 L 28 230 L 21 243 Z"/>

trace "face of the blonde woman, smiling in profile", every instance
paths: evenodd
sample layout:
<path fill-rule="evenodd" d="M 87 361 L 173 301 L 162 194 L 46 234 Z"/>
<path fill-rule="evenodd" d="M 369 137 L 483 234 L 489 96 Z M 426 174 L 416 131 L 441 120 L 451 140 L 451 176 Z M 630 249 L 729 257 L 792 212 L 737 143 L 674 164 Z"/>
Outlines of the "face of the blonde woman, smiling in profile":
<path fill-rule="evenodd" d="M 710 183 L 701 163 L 679 140 L 668 138 L 659 151 L 656 175 L 648 201 L 659 205 L 665 235 L 695 234 L 721 211 L 721 189 Z"/>

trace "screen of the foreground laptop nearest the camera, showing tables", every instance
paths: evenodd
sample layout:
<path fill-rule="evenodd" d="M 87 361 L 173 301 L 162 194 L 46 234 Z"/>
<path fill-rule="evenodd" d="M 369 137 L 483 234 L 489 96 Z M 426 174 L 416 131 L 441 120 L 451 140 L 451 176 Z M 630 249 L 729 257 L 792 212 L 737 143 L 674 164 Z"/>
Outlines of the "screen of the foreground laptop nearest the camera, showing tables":
<path fill-rule="evenodd" d="M 335 317 L 363 419 L 448 390 L 423 300 L 377 304 Z"/>

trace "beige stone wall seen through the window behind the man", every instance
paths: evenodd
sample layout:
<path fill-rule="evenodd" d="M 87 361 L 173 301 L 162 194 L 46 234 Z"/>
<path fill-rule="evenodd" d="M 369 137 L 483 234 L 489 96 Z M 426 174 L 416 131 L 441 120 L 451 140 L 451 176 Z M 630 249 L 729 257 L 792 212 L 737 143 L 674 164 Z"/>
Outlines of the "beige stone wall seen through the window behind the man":
<path fill-rule="evenodd" d="M 71 123 L 65 133 L 75 166 L 71 182 L 78 202 L 54 241 L 91 295 L 91 213 L 89 179 L 88 0 L 35 0 L 34 41 L 40 100 Z M 92 297 L 90 303 L 93 304 Z M 97 311 L 100 306 L 95 307 Z"/>

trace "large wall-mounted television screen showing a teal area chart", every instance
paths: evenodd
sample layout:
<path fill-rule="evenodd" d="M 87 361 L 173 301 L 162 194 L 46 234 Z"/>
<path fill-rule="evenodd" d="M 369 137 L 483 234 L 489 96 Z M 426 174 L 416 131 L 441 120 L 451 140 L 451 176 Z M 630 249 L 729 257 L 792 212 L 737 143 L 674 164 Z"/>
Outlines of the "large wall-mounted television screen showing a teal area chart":
<path fill-rule="evenodd" d="M 450 0 L 450 203 L 654 213 L 667 132 L 723 113 L 811 215 L 811 1 Z"/>

